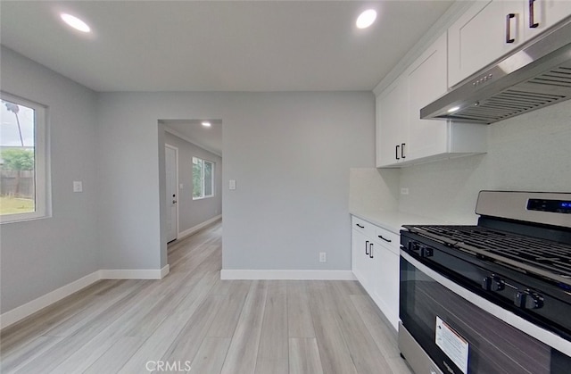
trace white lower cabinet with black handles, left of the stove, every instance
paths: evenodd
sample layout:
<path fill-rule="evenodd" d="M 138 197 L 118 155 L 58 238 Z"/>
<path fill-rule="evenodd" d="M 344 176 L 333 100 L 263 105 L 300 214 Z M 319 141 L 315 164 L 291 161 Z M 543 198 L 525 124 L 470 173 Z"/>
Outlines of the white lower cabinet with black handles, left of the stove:
<path fill-rule="evenodd" d="M 352 217 L 352 271 L 396 330 L 399 324 L 399 235 Z"/>

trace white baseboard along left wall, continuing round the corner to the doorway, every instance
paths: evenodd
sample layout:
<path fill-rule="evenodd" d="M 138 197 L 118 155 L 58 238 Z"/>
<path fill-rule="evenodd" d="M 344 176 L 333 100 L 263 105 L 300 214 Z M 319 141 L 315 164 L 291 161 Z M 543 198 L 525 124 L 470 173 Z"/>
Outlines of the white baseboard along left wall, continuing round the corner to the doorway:
<path fill-rule="evenodd" d="M 62 298 L 74 294 L 81 289 L 91 286 L 101 279 L 162 279 L 169 274 L 170 266 L 167 264 L 161 270 L 97 270 L 93 273 L 79 278 L 63 287 L 60 287 L 46 295 L 39 296 L 37 299 L 18 306 L 12 311 L 0 314 L 0 329 L 7 328 L 10 325 L 23 320 L 29 315 L 38 312 Z"/>

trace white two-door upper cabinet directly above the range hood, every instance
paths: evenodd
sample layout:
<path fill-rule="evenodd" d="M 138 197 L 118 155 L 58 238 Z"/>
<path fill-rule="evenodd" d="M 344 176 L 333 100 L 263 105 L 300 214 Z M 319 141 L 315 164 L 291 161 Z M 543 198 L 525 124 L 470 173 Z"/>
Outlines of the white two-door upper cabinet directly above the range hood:
<path fill-rule="evenodd" d="M 476 1 L 448 29 L 448 86 L 571 14 L 570 0 Z"/>

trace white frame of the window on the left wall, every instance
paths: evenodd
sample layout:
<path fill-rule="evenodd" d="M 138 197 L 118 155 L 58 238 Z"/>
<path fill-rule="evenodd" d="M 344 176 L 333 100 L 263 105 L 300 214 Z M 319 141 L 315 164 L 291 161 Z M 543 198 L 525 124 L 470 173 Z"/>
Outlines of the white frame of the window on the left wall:
<path fill-rule="evenodd" d="M 48 152 L 48 107 L 34 101 L 0 91 L 0 99 L 34 110 L 34 185 L 35 212 L 0 214 L 0 224 L 51 217 L 51 179 Z"/>

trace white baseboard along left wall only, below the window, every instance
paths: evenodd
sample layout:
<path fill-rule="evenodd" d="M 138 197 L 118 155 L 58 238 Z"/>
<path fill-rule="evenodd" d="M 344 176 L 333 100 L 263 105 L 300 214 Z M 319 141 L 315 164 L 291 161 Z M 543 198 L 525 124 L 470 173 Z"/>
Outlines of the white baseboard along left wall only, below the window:
<path fill-rule="evenodd" d="M 40 296 L 29 303 L 18 306 L 12 309 L 12 311 L 5 312 L 0 315 L 0 328 L 7 328 L 19 320 L 23 320 L 29 315 L 62 300 L 62 298 L 94 284 L 99 279 L 101 279 L 100 271 L 97 270 L 83 278 L 79 278 L 63 287 L 57 288 L 46 295 Z"/>

